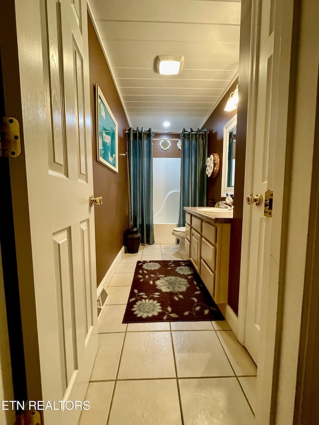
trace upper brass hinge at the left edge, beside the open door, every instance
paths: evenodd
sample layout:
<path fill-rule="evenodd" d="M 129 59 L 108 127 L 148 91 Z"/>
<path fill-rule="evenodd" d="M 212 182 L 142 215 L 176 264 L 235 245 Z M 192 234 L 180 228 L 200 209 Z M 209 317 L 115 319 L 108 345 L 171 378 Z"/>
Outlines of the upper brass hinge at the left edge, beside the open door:
<path fill-rule="evenodd" d="M 20 124 L 16 118 L 0 119 L 0 156 L 15 158 L 21 154 Z"/>

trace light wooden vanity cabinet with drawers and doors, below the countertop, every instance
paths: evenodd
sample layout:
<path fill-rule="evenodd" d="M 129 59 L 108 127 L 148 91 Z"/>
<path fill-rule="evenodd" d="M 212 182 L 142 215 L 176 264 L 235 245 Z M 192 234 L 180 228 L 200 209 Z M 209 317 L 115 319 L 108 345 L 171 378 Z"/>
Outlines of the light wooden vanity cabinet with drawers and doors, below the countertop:
<path fill-rule="evenodd" d="M 216 304 L 228 296 L 230 223 L 214 223 L 186 214 L 185 247 Z"/>

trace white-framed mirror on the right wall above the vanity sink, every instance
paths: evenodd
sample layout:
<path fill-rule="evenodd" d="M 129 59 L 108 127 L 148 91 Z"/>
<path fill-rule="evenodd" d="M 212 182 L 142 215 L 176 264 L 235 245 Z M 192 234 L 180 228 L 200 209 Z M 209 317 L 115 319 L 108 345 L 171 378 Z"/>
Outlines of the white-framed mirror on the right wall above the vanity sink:
<path fill-rule="evenodd" d="M 234 194 L 237 114 L 224 127 L 221 197 Z"/>

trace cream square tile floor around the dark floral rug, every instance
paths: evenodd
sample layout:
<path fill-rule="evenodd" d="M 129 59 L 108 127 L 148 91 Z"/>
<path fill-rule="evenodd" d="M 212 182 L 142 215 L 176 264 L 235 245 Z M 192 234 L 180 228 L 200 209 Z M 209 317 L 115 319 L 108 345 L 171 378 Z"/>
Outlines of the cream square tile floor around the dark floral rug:
<path fill-rule="evenodd" d="M 91 408 L 79 425 L 255 424 L 257 368 L 225 321 L 122 323 L 136 262 L 181 259 L 176 250 L 124 255 L 107 288 Z"/>

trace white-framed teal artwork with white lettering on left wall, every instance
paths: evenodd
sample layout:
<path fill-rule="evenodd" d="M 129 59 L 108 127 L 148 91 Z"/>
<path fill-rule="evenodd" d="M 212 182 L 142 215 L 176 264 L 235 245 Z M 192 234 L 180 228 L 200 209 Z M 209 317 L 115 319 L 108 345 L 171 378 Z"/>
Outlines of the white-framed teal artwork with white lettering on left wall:
<path fill-rule="evenodd" d="M 111 170 L 119 172 L 118 123 L 97 84 L 95 84 L 95 97 L 97 160 Z"/>

